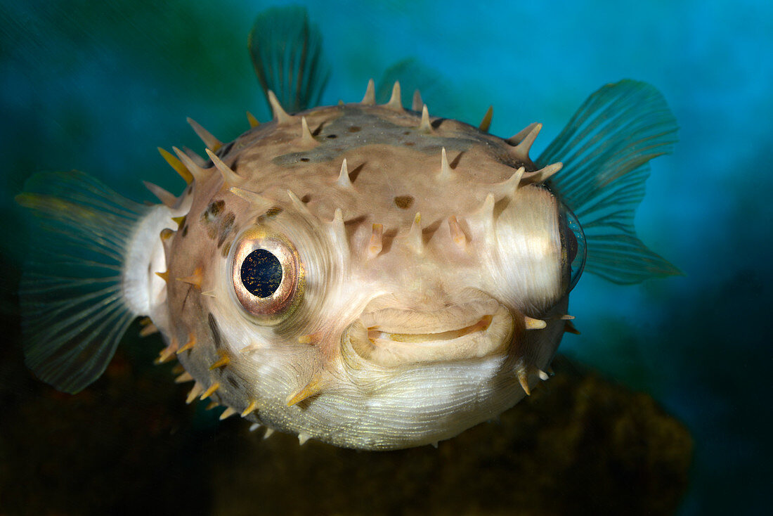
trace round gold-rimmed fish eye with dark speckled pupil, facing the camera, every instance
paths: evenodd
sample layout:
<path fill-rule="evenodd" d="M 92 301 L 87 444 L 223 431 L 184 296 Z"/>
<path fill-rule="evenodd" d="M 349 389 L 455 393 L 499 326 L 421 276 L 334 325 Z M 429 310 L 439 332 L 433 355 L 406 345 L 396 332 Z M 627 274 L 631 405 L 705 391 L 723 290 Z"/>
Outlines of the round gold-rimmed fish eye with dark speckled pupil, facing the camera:
<path fill-rule="evenodd" d="M 258 323 L 271 326 L 284 320 L 301 301 L 303 267 L 287 238 L 254 228 L 237 243 L 232 280 L 243 309 Z"/>

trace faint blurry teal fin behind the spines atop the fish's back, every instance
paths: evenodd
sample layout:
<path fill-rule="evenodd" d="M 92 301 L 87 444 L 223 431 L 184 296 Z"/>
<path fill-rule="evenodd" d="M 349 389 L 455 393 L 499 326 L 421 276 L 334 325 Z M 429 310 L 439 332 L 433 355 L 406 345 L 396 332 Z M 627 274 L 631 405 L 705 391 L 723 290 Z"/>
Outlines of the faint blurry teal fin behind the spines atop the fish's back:
<path fill-rule="evenodd" d="M 421 97 L 429 104 L 429 107 L 433 108 L 434 106 L 435 110 L 439 110 L 440 104 L 447 103 L 447 99 L 451 97 L 445 87 L 448 81 L 441 73 L 427 67 L 420 60 L 409 57 L 394 63 L 384 71 L 376 88 L 376 102 L 378 104 L 386 104 L 389 101 L 395 81 L 400 82 L 404 104 L 405 101 L 410 101 L 414 91 L 417 90 L 421 92 Z"/>

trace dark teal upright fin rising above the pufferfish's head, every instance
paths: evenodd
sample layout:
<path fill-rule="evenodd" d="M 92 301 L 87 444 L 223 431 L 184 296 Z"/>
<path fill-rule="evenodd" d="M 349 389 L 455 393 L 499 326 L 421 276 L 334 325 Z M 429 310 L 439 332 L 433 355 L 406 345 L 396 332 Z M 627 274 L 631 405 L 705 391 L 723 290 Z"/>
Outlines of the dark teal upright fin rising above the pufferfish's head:
<path fill-rule="evenodd" d="M 272 7 L 257 15 L 248 42 L 250 56 L 268 101 L 276 94 L 288 113 L 314 108 L 330 76 L 322 36 L 304 7 Z"/>

